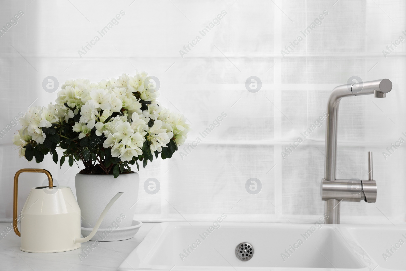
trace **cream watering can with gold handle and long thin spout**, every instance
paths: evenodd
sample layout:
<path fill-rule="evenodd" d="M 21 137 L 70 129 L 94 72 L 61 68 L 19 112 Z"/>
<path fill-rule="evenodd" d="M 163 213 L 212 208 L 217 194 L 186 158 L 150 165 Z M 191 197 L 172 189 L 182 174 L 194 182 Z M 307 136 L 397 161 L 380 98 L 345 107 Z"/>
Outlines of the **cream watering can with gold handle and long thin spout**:
<path fill-rule="evenodd" d="M 48 186 L 32 188 L 21 210 L 21 233 L 17 228 L 17 181 L 22 172 L 42 172 L 48 176 Z M 20 169 L 14 177 L 13 226 L 21 237 L 20 250 L 33 253 L 61 252 L 81 247 L 89 241 L 106 213 L 123 194 L 117 193 L 104 208 L 89 236 L 80 238 L 80 208 L 69 186 L 53 186 L 52 176 L 45 169 Z"/>

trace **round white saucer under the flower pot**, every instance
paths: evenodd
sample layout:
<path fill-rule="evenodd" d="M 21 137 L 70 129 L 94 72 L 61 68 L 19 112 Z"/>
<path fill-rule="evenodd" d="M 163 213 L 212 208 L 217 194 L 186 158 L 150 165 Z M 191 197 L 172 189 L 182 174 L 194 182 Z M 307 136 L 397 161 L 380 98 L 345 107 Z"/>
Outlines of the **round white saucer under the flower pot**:
<path fill-rule="evenodd" d="M 141 221 L 133 220 L 130 227 L 120 228 L 99 228 L 90 240 L 91 241 L 120 241 L 127 240 L 134 237 L 139 228 L 143 225 Z M 88 236 L 92 232 L 93 228 L 80 227 L 80 232 L 83 236 Z"/>

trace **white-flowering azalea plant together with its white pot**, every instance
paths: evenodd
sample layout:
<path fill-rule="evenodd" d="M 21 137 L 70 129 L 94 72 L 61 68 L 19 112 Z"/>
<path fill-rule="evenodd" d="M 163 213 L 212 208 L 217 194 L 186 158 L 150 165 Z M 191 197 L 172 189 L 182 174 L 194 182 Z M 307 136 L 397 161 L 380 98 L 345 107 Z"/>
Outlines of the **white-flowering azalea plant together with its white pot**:
<path fill-rule="evenodd" d="M 84 228 L 93 228 L 105 202 L 117 192 L 125 193 L 101 228 L 120 217 L 120 226 L 130 227 L 139 184 L 131 165 L 138 171 L 154 156 L 171 158 L 186 140 L 185 117 L 158 103 L 150 81 L 145 72 L 98 83 L 68 80 L 55 104 L 31 107 L 20 119 L 23 127 L 13 139 L 20 157 L 40 163 L 51 154 L 60 166 L 66 160 L 69 166 L 82 162 L 75 185 Z"/>

